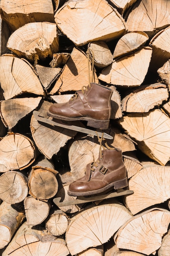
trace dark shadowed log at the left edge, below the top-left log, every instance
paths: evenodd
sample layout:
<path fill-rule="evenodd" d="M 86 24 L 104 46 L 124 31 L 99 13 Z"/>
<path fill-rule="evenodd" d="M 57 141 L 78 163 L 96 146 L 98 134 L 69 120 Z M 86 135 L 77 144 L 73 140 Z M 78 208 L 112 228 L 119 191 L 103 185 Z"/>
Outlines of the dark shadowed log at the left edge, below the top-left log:
<path fill-rule="evenodd" d="M 7 41 L 10 35 L 11 31 L 7 25 L 7 22 L 2 20 L 0 15 L 0 56 L 10 52 L 9 49 L 7 49 Z"/>

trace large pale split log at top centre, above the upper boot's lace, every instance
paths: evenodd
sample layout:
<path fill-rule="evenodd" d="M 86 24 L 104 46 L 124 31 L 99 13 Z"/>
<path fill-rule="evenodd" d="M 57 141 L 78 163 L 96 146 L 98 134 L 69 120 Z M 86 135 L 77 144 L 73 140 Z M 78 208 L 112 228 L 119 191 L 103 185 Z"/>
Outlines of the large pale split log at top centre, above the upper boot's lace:
<path fill-rule="evenodd" d="M 59 29 L 75 45 L 113 40 L 126 31 L 122 16 L 105 0 L 66 2 L 54 17 Z"/>

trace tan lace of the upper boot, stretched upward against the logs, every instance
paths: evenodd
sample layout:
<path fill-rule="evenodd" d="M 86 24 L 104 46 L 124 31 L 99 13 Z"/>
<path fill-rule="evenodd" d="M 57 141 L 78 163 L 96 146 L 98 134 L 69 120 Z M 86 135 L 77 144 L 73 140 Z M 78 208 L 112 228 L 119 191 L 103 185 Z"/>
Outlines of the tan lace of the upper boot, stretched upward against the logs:
<path fill-rule="evenodd" d="M 92 55 L 92 61 L 90 61 L 90 54 Z M 89 49 L 89 45 L 88 45 L 88 49 L 87 49 L 87 52 L 86 52 L 86 56 L 87 56 L 87 60 L 88 60 L 88 82 L 89 82 L 89 87 L 88 88 L 91 88 L 91 83 L 93 83 L 93 79 L 95 80 L 95 75 L 94 75 L 94 52 L 93 50 Z M 92 71 L 92 75 L 90 75 L 90 64 L 92 63 L 92 66 L 91 66 L 91 71 Z M 91 76 L 91 77 L 90 77 Z M 83 85 L 82 86 L 82 93 L 85 94 L 85 92 L 88 92 L 88 88 L 87 86 Z M 73 101 L 74 99 L 77 99 L 78 97 L 78 93 L 75 92 L 75 94 L 73 94 L 73 96 L 71 97 L 71 101 Z"/>

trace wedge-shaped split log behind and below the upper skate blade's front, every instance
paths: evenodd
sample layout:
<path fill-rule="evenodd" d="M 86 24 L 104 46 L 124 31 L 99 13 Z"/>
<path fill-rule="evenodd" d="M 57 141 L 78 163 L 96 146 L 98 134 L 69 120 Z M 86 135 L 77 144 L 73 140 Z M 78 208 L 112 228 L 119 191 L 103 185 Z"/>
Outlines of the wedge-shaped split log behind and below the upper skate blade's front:
<path fill-rule="evenodd" d="M 49 110 L 50 106 L 51 103 L 48 101 L 44 101 L 42 103 L 40 108 L 42 117 L 47 118 L 46 112 Z M 54 154 L 57 154 L 60 148 L 77 133 L 66 128 L 42 125 L 35 119 L 34 115 L 32 115 L 30 125 L 31 134 L 36 146 L 48 159 L 51 159 Z"/>

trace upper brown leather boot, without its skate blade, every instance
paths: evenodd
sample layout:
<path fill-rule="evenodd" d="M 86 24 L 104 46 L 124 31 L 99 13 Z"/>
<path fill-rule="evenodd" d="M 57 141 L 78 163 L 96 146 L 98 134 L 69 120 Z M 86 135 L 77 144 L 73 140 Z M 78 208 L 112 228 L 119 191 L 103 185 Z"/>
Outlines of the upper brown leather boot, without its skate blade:
<path fill-rule="evenodd" d="M 65 121 L 84 120 L 88 121 L 88 126 L 107 129 L 111 115 L 112 94 L 110 88 L 90 83 L 77 91 L 68 102 L 54 103 L 47 115 Z"/>

